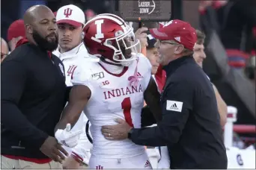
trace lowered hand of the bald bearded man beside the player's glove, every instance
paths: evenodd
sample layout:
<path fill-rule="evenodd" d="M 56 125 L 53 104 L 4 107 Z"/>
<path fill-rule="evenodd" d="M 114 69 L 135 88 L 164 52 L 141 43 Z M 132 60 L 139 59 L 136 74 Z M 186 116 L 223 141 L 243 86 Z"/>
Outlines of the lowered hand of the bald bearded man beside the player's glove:
<path fill-rule="evenodd" d="M 51 158 L 55 162 L 62 163 L 65 160 L 64 154 L 67 156 L 67 151 L 61 147 L 57 139 L 52 136 L 49 136 L 40 147 L 40 151 L 45 154 L 47 157 Z M 63 154 L 62 154 L 62 153 Z"/>

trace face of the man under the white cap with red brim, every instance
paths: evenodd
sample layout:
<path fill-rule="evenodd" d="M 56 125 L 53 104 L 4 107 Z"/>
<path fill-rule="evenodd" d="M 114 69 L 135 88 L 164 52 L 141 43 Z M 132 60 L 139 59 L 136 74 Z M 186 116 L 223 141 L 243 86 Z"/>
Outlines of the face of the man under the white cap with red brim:
<path fill-rule="evenodd" d="M 82 42 L 82 26 L 58 24 L 58 43 L 61 50 L 70 51 Z"/>

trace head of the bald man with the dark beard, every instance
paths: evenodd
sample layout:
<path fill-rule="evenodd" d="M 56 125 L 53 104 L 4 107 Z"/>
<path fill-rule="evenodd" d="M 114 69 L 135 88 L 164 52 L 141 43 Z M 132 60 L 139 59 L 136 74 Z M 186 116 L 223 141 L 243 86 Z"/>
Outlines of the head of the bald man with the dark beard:
<path fill-rule="evenodd" d="M 31 24 L 31 34 L 41 48 L 53 51 L 58 47 L 57 24 L 52 10 L 42 9 Z"/>

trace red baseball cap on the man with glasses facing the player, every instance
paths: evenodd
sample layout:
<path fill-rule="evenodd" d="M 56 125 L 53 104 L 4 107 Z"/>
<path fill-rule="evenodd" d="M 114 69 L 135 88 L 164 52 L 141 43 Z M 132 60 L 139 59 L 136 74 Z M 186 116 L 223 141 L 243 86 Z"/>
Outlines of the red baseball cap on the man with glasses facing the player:
<path fill-rule="evenodd" d="M 171 20 L 161 28 L 150 29 L 150 34 L 159 40 L 174 40 L 190 50 L 197 41 L 195 28 L 179 19 Z"/>

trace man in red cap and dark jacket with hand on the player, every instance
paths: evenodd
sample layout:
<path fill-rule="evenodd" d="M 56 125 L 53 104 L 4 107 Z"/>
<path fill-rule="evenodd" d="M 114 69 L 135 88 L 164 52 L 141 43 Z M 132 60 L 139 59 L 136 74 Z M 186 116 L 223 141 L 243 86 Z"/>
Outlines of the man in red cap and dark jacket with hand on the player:
<path fill-rule="evenodd" d="M 192 57 L 195 29 L 176 19 L 150 33 L 158 39 L 159 63 L 166 72 L 162 121 L 156 127 L 132 128 L 118 119 L 118 125 L 102 127 L 103 135 L 137 145 L 167 145 L 171 169 L 227 169 L 213 86 Z"/>

